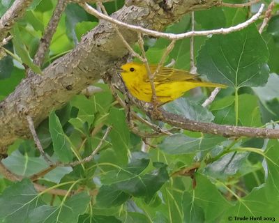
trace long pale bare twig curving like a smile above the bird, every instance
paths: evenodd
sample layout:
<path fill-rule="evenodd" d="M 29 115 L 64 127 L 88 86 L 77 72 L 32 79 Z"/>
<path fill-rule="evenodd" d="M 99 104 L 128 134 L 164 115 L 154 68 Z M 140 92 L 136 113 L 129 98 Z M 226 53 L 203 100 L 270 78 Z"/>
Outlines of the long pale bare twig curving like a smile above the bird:
<path fill-rule="evenodd" d="M 130 29 L 133 31 L 136 31 L 137 33 L 144 33 L 149 36 L 154 36 L 154 37 L 161 37 L 161 38 L 167 38 L 169 40 L 180 40 L 183 38 L 188 38 L 190 36 L 208 36 L 208 35 L 213 35 L 213 34 L 227 34 L 227 33 L 232 33 L 234 31 L 239 31 L 241 29 L 246 28 L 253 22 L 259 19 L 259 16 L 262 14 L 262 11 L 264 10 L 264 4 L 261 5 L 259 8 L 258 12 L 250 17 L 249 20 L 246 20 L 246 22 L 237 24 L 236 26 L 231 26 L 229 28 L 221 28 L 221 29 L 213 29 L 209 31 L 190 31 L 187 33 L 181 33 L 181 34 L 174 34 L 174 33 L 162 33 L 158 31 L 153 31 L 151 29 L 144 29 L 141 26 L 135 26 L 131 24 L 126 24 L 125 22 L 121 22 L 119 20 L 115 20 L 114 18 L 104 15 L 103 13 L 99 13 L 95 8 L 92 8 L 88 4 L 83 5 L 84 9 L 86 12 L 98 17 L 99 19 L 107 20 L 108 22 L 111 22 L 113 24 L 123 26 L 126 29 Z"/>

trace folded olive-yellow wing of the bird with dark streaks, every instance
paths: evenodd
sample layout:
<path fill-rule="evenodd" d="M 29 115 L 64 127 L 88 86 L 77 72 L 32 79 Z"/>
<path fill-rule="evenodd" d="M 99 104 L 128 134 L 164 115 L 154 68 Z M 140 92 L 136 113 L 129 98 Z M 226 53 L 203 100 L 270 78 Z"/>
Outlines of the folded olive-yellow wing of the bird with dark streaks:
<path fill-rule="evenodd" d="M 150 66 L 151 73 L 154 73 L 156 69 L 156 65 Z M 155 76 L 154 82 L 181 82 L 185 80 L 195 79 L 198 76 L 199 75 L 192 75 L 186 70 L 163 67 Z M 148 76 L 146 76 L 146 82 L 149 82 Z"/>

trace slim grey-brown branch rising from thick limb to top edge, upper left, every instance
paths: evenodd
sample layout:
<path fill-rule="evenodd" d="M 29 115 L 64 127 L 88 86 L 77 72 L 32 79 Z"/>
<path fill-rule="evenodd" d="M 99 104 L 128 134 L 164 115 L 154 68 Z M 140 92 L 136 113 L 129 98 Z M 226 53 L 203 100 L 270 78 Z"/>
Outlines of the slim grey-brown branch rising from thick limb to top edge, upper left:
<path fill-rule="evenodd" d="M 43 65 L 45 54 L 47 53 L 47 49 L 50 47 L 52 36 L 54 35 L 56 28 L 59 24 L 61 15 L 66 8 L 67 1 L 68 0 L 57 1 L 57 5 L 54 9 L 50 22 L 47 24 L 47 27 L 45 28 L 45 33 L 43 34 L 43 37 L 40 39 L 38 50 L 33 59 L 33 63 L 38 67 L 41 67 Z"/>

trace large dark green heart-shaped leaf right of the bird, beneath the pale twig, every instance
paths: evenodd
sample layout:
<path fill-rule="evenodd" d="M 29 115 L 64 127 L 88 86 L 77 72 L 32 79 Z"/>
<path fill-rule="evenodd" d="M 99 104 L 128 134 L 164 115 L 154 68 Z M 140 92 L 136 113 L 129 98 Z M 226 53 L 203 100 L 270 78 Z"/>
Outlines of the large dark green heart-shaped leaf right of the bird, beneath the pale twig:
<path fill-rule="evenodd" d="M 197 72 L 212 82 L 234 88 L 262 86 L 269 77 L 269 52 L 255 25 L 206 40 L 197 58 Z"/>

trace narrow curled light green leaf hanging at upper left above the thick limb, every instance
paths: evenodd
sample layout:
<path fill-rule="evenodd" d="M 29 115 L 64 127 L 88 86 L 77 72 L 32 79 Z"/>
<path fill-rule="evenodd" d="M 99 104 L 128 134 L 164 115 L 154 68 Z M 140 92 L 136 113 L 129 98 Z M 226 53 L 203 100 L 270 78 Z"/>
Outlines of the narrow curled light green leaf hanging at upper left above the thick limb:
<path fill-rule="evenodd" d="M 20 56 L 20 59 L 22 59 L 22 63 L 25 63 L 33 72 L 36 72 L 37 74 L 41 73 L 41 70 L 38 66 L 33 64 L 33 61 L 31 61 L 31 58 L 29 56 L 29 52 L 26 49 L 25 45 L 22 43 L 22 36 L 20 33 L 20 29 L 18 26 L 13 26 L 13 46 L 15 47 L 15 52 Z"/>

